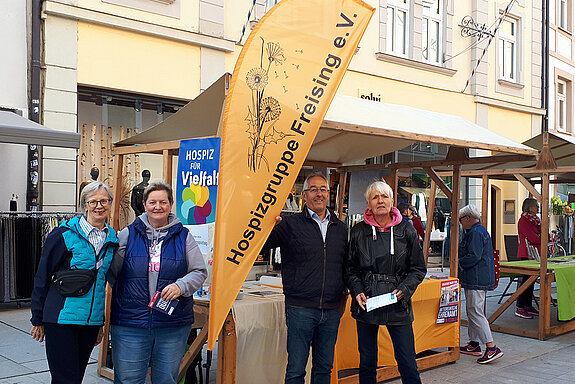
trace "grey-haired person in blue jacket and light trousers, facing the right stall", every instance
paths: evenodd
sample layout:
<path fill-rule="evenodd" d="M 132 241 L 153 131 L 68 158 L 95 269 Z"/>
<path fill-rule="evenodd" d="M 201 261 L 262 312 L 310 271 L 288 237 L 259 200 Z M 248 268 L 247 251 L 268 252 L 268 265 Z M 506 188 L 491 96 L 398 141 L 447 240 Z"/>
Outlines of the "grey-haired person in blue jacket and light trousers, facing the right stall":
<path fill-rule="evenodd" d="M 460 351 L 466 355 L 479 356 L 479 343 L 485 343 L 485 354 L 477 362 L 487 364 L 503 356 L 503 352 L 493 342 L 483 310 L 486 292 L 495 288 L 495 267 L 491 237 L 481 225 L 480 217 L 474 205 L 467 205 L 459 211 L 459 222 L 465 230 L 459 247 L 459 282 L 465 290 L 465 308 L 469 320 L 469 343 L 460 347 Z"/>

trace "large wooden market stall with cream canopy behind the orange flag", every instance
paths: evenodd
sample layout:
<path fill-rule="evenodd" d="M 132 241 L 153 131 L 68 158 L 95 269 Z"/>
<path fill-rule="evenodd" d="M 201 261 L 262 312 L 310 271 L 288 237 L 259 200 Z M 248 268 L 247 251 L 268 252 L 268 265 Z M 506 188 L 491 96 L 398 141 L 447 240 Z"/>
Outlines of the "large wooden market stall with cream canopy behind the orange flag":
<path fill-rule="evenodd" d="M 214 137 L 219 132 L 222 107 L 229 75 L 225 75 L 212 87 L 208 88 L 198 98 L 182 108 L 178 113 L 168 118 L 165 122 L 150 128 L 138 135 L 116 143 L 113 149 L 115 173 L 117 175 L 114 186 L 120 185 L 119 177 L 122 169 L 123 157 L 135 153 L 155 153 L 163 157 L 163 178 L 170 182 L 173 174 L 173 156 L 178 155 L 180 140 L 200 137 Z M 213 115 L 206 117 L 203 108 L 212 109 Z M 385 118 L 382 118 L 385 116 Z M 202 121 L 203 120 L 203 121 Z M 438 129 L 441 127 L 442 129 Z M 445 135 L 449 136 L 445 136 Z M 404 148 L 414 142 L 430 142 L 450 146 L 447 157 L 437 162 L 407 163 L 402 165 L 375 165 L 346 167 L 344 164 L 352 161 L 363 160 L 368 157 L 389 153 Z M 513 155 L 498 156 L 494 160 L 492 156 L 485 158 L 469 158 L 466 148 L 477 148 L 498 152 L 513 153 Z M 337 95 L 322 123 L 312 148 L 307 156 L 306 165 L 317 167 L 335 168 L 340 172 L 340 193 L 338 214 L 342 213 L 343 191 L 349 182 L 349 173 L 354 170 L 366 169 L 390 169 L 392 171 L 394 190 L 397 191 L 397 177 L 400 168 L 421 167 L 432 178 L 432 194 L 436 186 L 448 197 L 459 196 L 461 165 L 485 164 L 493 161 L 520 161 L 534 159 L 537 151 L 494 132 L 473 124 L 463 118 L 441 113 L 423 111 L 406 106 L 384 104 L 361 100 L 354 97 Z M 453 168 L 453 188 L 450 189 L 442 181 L 433 169 L 435 165 L 450 166 Z M 452 211 L 457 215 L 459 211 L 459 199 L 452 200 Z M 434 201 L 433 196 L 430 201 Z M 115 203 L 112 213 L 112 224 L 118 228 L 117 212 Z M 430 210 L 433 212 L 433 210 Z M 452 223 L 457 223 L 457 216 Z M 452 224 L 451 249 L 452 255 L 457 255 L 457 241 L 459 226 Z M 426 233 L 426 244 L 429 244 L 430 233 Z M 427 247 L 428 248 L 428 247 Z M 427 257 L 427 254 L 426 254 Z M 457 277 L 457 256 L 451 259 L 451 276 Z M 204 306 L 204 305 L 202 305 Z M 437 306 L 439 302 L 437 301 Z M 200 311 L 204 309 L 198 308 Z M 108 318 L 108 317 L 107 317 Z M 435 322 L 433 320 L 433 326 Z M 446 351 L 434 356 L 419 360 L 421 369 L 430 368 L 456 361 L 459 358 L 459 322 L 457 337 L 452 338 Z M 204 327 L 205 328 L 205 327 Z M 105 338 L 107 340 L 108 324 L 105 326 Z M 235 382 L 236 364 L 236 324 L 231 314 L 228 316 L 224 328 L 220 334 L 218 346 L 218 382 Z M 207 337 L 207 332 L 202 332 L 184 356 L 181 373 L 193 360 Z M 425 336 L 422 336 L 425 337 Z M 102 348 L 99 358 L 99 374 L 112 377 L 111 370 L 104 367 L 106 349 Z M 378 377 L 390 378 L 397 375 L 396 367 L 384 367 L 379 370 Z M 341 383 L 356 382 L 357 376 L 341 378 Z"/>

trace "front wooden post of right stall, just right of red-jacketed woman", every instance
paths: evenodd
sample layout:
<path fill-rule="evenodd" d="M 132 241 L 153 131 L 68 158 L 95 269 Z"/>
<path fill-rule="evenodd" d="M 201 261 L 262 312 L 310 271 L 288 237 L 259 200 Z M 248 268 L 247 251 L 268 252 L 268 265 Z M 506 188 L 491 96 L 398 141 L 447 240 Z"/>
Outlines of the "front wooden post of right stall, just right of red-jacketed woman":
<path fill-rule="evenodd" d="M 544 340 L 551 327 L 551 291 L 547 274 L 547 239 L 549 237 L 549 176 L 541 175 L 541 266 L 539 268 L 539 340 Z"/>

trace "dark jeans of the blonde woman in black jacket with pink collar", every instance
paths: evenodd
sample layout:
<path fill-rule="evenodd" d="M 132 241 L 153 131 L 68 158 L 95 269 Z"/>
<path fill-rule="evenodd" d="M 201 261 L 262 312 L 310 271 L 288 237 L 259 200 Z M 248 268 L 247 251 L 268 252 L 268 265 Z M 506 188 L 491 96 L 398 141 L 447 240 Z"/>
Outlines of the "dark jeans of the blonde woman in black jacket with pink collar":
<path fill-rule="evenodd" d="M 387 325 L 397 368 L 404 384 L 420 384 L 415 360 L 415 341 L 411 324 Z M 357 322 L 357 345 L 359 349 L 359 384 L 377 383 L 377 334 L 379 325 Z"/>

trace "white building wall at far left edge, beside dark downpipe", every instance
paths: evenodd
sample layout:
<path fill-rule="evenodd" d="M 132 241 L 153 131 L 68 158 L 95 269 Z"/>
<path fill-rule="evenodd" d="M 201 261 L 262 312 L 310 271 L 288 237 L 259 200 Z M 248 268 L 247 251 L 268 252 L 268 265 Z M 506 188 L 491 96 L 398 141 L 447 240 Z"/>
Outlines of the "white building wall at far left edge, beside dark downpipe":
<path fill-rule="evenodd" d="M 18 109 L 27 116 L 26 1 L 2 0 L 0 12 L 0 107 Z M 18 209 L 26 206 L 25 145 L 0 143 L 0 210 L 7 211 L 13 193 Z M 9 164 L 9 166 L 7 166 Z"/>

